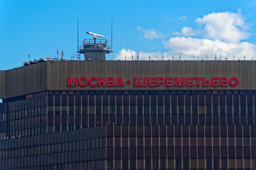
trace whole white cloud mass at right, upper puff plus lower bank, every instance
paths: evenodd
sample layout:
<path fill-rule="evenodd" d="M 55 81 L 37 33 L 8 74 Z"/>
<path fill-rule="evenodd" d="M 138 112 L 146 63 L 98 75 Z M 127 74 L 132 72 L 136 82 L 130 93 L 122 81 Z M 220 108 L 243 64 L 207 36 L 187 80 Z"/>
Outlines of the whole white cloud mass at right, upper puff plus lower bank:
<path fill-rule="evenodd" d="M 250 36 L 249 25 L 244 22 L 240 11 L 237 13 L 220 12 L 210 13 L 202 18 L 196 18 L 196 23 L 203 25 L 202 30 L 191 27 L 183 27 L 181 32 L 174 35 L 168 41 L 163 41 L 164 48 L 171 50 L 174 55 L 195 55 L 196 59 L 202 59 L 206 55 L 214 59 L 214 55 L 232 59 L 247 59 L 256 57 L 256 46 L 253 43 L 241 41 Z M 204 38 L 193 38 L 204 32 Z M 191 57 L 190 57 L 191 58 Z"/>

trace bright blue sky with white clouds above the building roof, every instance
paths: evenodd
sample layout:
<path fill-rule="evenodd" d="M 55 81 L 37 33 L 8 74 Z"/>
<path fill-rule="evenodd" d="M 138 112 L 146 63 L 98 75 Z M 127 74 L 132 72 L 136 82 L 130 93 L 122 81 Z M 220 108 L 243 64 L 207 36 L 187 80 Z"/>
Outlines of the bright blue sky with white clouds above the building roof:
<path fill-rule="evenodd" d="M 24 61 L 70 59 L 86 31 L 111 39 L 108 60 L 131 59 L 256 59 L 256 1 L 8 1 L 0 0 L 0 69 Z"/>

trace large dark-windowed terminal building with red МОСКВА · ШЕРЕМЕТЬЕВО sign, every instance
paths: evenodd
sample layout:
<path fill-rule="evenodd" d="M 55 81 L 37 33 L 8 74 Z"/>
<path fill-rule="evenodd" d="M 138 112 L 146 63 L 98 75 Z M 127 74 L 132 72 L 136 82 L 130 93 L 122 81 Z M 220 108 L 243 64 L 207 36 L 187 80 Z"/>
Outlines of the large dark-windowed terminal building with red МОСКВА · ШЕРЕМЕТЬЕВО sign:
<path fill-rule="evenodd" d="M 256 169 L 256 61 L 0 71 L 0 169 Z"/>

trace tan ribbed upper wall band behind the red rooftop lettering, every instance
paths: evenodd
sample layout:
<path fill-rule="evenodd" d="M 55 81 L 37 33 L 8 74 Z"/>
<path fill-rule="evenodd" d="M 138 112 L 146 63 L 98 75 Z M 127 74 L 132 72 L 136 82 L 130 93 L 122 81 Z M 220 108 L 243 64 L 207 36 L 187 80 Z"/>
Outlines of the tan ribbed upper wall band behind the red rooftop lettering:
<path fill-rule="evenodd" d="M 43 90 L 256 90 L 256 61 L 48 61 L 0 71 L 0 98 Z M 67 87 L 67 77 L 122 77 L 125 87 Z M 237 87 L 134 87 L 134 77 L 236 76 Z M 131 84 L 127 84 L 131 80 Z M 6 92 L 4 92 L 6 91 Z"/>

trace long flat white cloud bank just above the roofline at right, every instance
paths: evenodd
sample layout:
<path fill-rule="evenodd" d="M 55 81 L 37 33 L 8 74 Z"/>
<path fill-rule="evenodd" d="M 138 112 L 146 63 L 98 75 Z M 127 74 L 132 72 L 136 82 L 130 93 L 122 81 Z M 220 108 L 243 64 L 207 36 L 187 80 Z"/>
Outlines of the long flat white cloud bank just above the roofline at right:
<path fill-rule="evenodd" d="M 208 55 L 209 59 L 213 60 L 215 54 L 228 59 L 231 59 L 233 55 L 236 59 L 243 59 L 244 54 L 250 56 L 250 59 L 256 56 L 256 46 L 248 42 L 227 43 L 220 40 L 174 37 L 163 43 L 164 47 L 171 49 L 174 55 L 190 56 L 188 59 L 192 59 L 193 55 L 195 55 L 195 59 L 202 59 Z"/>

